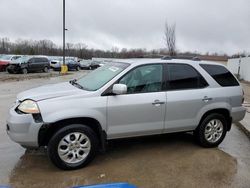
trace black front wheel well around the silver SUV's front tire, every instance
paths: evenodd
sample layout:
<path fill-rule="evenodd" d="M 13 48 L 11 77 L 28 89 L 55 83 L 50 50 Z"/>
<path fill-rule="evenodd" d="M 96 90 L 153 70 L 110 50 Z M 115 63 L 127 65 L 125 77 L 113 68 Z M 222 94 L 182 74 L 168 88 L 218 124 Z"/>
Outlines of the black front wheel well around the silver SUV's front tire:
<path fill-rule="evenodd" d="M 70 124 L 83 124 L 90 127 L 99 139 L 101 149 L 105 150 L 106 132 L 102 130 L 101 124 L 94 118 L 70 118 L 57 121 L 51 124 L 44 124 L 38 133 L 39 146 L 47 146 L 51 137 L 61 128 Z"/>

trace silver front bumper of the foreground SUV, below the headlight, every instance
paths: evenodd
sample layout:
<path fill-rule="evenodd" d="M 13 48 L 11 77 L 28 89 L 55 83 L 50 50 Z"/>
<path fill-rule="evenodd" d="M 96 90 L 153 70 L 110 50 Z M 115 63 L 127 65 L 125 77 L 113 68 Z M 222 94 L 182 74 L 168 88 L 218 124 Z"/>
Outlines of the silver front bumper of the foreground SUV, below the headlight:
<path fill-rule="evenodd" d="M 38 148 L 38 132 L 43 122 L 35 122 L 32 114 L 18 114 L 15 107 L 9 111 L 7 133 L 11 140 L 24 147 Z"/>

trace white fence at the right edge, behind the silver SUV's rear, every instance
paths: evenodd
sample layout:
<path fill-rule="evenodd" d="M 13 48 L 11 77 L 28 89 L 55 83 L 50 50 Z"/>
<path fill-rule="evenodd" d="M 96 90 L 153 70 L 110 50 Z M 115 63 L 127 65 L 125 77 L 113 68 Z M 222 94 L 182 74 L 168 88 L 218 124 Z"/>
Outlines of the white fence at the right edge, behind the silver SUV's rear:
<path fill-rule="evenodd" d="M 238 78 L 250 82 L 250 57 L 229 59 L 227 67 Z"/>

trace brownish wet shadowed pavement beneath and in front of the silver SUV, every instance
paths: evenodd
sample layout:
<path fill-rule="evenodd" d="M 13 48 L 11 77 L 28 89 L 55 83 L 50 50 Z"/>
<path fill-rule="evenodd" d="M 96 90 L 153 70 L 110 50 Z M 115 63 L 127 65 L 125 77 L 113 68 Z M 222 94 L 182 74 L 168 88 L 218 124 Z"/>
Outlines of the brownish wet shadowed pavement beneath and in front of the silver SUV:
<path fill-rule="evenodd" d="M 223 151 L 205 149 L 192 134 L 179 133 L 110 141 L 107 151 L 87 167 L 62 171 L 45 150 L 26 151 L 12 171 L 13 187 L 71 187 L 130 182 L 139 187 L 227 187 L 236 160 Z"/>

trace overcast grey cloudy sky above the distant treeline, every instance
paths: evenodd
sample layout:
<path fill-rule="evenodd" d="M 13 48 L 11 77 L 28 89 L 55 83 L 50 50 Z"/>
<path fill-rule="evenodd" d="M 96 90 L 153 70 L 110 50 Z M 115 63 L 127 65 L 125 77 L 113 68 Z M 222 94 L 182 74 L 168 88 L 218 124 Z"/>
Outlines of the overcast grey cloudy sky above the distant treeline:
<path fill-rule="evenodd" d="M 62 0 L 0 0 L 0 12 L 0 38 L 61 44 Z M 250 53 L 250 0 L 66 0 L 66 41 L 163 48 L 166 20 L 180 51 Z"/>

